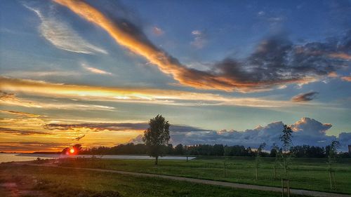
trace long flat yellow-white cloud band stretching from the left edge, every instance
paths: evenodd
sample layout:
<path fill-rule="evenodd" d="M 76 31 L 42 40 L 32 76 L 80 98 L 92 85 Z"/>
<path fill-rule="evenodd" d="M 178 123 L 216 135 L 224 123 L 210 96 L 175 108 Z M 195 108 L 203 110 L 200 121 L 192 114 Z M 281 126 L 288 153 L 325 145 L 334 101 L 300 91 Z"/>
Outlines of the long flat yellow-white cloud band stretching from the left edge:
<path fill-rule="evenodd" d="M 107 88 L 47 83 L 27 79 L 0 77 L 1 90 L 29 95 L 78 98 L 79 100 L 107 100 L 112 102 L 139 102 L 173 104 L 180 106 L 237 105 L 246 107 L 289 107 L 293 103 L 284 100 L 268 100 L 260 97 L 227 97 L 211 93 L 192 93 L 180 90 Z M 77 105 L 75 105 L 77 107 Z M 92 107 L 91 105 L 87 106 Z"/>

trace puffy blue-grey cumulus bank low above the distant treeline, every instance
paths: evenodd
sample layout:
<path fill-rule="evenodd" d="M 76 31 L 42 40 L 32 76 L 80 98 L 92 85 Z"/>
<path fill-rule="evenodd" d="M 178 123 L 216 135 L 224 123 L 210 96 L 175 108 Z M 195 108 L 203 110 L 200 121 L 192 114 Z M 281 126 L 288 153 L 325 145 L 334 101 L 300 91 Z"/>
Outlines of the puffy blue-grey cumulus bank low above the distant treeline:
<path fill-rule="evenodd" d="M 267 149 L 273 143 L 280 144 L 279 135 L 282 134 L 284 123 L 282 121 L 258 126 L 244 131 L 237 130 L 203 130 L 200 128 L 183 127 L 171 129 L 172 144 L 227 144 L 258 147 L 265 142 Z M 331 128 L 329 123 L 320 123 L 313 118 L 301 118 L 291 125 L 293 128 L 293 145 L 308 144 L 311 146 L 325 147 L 336 138 L 341 143 L 340 150 L 345 151 L 347 144 L 351 144 L 351 133 L 340 133 L 338 137 L 326 135 Z M 131 142 L 140 142 L 140 137 L 135 137 Z"/>

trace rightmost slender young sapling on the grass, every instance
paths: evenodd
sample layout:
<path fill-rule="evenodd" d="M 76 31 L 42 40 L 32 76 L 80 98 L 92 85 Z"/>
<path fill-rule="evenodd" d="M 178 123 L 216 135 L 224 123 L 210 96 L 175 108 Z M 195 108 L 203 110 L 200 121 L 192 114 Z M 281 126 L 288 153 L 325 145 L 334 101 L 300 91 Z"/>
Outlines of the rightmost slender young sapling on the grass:
<path fill-rule="evenodd" d="M 328 155 L 328 172 L 329 172 L 329 181 L 330 189 L 335 189 L 335 172 L 333 170 L 333 163 L 336 163 L 336 157 L 338 156 L 338 148 L 340 147 L 340 142 L 333 140 L 329 146 L 326 146 L 326 154 Z M 334 186 L 333 186 L 334 183 Z"/>

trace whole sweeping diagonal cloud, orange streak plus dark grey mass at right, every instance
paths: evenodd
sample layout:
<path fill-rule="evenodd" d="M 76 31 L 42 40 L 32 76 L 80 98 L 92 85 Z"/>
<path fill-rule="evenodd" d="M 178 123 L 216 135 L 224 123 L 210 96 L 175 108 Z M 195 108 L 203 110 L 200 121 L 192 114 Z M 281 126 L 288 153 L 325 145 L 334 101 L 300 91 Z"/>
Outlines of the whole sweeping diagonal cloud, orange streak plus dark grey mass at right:
<path fill-rule="evenodd" d="M 157 48 L 128 20 L 111 18 L 112 15 L 107 17 L 84 1 L 54 1 L 105 29 L 119 45 L 145 57 L 181 85 L 198 89 L 252 92 L 270 90 L 287 83 L 318 81 L 342 65 L 350 50 L 346 44 L 336 46 L 328 42 L 297 46 L 282 36 L 274 36 L 262 41 L 256 51 L 243 62 L 227 58 L 214 64 L 211 70 L 199 71 L 186 67 L 175 57 Z M 349 36 L 347 34 L 346 39 Z M 343 41 L 345 39 L 340 43 Z M 342 53 L 345 55 L 335 55 Z"/>

